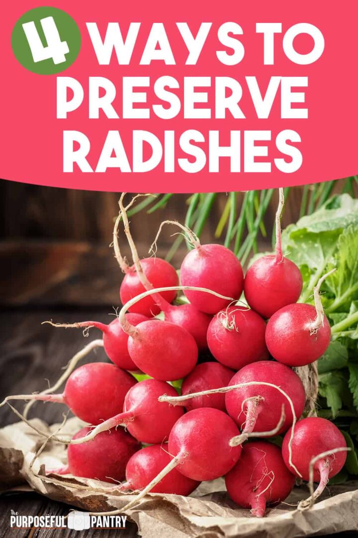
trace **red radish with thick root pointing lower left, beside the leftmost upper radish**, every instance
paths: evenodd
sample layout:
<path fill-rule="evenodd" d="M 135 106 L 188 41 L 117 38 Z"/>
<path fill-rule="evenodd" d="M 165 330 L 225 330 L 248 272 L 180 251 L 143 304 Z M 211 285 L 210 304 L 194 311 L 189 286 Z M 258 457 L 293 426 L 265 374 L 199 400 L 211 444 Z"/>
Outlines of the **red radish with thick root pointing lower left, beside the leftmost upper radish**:
<path fill-rule="evenodd" d="M 123 405 L 123 412 L 111 416 L 92 429 L 83 442 L 90 441 L 101 431 L 112 429 L 120 424 L 142 443 L 162 443 L 167 441 L 170 431 L 184 410 L 160 403 L 163 393 L 177 396 L 171 385 L 156 379 L 145 379 L 129 389 Z"/>

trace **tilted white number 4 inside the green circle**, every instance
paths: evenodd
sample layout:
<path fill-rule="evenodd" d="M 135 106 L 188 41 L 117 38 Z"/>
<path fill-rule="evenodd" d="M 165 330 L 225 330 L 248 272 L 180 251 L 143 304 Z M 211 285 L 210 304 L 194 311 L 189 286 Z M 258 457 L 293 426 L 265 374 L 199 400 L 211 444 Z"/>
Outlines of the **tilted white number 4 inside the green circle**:
<path fill-rule="evenodd" d="M 23 29 L 30 46 L 33 61 L 35 63 L 52 58 L 55 64 L 66 61 L 65 54 L 68 54 L 69 48 L 67 41 L 61 41 L 59 31 L 53 17 L 46 17 L 40 20 L 47 47 L 41 43 L 39 32 L 36 29 L 35 23 L 24 23 Z"/>

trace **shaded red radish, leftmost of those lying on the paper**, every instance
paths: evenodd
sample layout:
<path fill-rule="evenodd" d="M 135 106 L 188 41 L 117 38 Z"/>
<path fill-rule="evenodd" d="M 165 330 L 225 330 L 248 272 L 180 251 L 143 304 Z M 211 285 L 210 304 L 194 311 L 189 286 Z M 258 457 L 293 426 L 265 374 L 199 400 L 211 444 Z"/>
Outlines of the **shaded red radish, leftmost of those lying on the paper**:
<path fill-rule="evenodd" d="M 72 440 L 81 439 L 90 431 L 90 427 L 82 428 Z M 120 482 L 126 476 L 129 458 L 140 448 L 140 443 L 122 428 L 103 431 L 91 443 L 70 444 L 67 450 L 68 465 L 48 472 Z"/>

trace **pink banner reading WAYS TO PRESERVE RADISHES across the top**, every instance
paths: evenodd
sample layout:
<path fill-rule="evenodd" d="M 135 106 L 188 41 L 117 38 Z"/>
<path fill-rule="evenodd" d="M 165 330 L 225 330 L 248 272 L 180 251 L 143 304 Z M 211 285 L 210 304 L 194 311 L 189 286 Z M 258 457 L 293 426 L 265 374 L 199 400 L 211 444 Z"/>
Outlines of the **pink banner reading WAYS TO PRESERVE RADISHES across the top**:
<path fill-rule="evenodd" d="M 0 21 L 2 178 L 165 193 L 357 172 L 355 0 L 52 2 L 81 49 L 61 17 L 60 47 L 44 18 L 19 21 L 42 5 Z M 46 54 L 56 73 L 39 74 Z"/>

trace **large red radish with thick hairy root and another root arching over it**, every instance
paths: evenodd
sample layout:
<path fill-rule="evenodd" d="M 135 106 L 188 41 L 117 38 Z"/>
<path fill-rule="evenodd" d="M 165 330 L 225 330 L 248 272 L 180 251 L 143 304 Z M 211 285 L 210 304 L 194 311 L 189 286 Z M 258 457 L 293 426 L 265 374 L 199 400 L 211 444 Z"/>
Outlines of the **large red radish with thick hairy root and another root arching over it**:
<path fill-rule="evenodd" d="M 301 379 L 288 366 L 263 360 L 244 366 L 231 379 L 229 385 L 264 381 L 280 387 L 291 398 L 297 419 L 302 415 L 305 392 Z M 293 423 L 293 415 L 287 398 L 274 387 L 251 385 L 234 389 L 225 395 L 229 415 L 243 427 L 243 433 L 271 431 L 280 422 L 282 406 L 285 419 L 280 433 Z"/>

